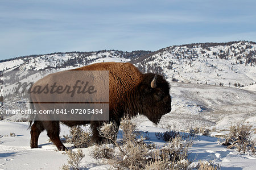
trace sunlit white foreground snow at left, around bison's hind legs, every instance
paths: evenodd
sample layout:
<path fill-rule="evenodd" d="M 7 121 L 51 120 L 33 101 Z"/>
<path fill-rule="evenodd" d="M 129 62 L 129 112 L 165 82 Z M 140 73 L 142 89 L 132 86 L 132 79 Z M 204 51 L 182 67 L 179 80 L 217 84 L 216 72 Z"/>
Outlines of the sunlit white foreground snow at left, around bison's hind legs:
<path fill-rule="evenodd" d="M 30 149 L 30 131 L 25 122 L 0 122 L 0 169 L 59 169 L 67 164 L 67 155 L 56 151 L 52 143 L 48 143 L 46 132 L 39 137 L 39 148 Z M 15 137 L 10 136 L 15 133 Z M 61 135 L 69 134 L 67 126 L 61 126 Z M 8 135 L 8 136 L 5 136 Z M 83 150 L 85 158 L 81 165 L 99 169 L 96 160 L 89 156 L 90 148 Z M 107 167 L 104 165 L 104 167 Z M 106 168 L 105 168 L 106 169 Z"/>

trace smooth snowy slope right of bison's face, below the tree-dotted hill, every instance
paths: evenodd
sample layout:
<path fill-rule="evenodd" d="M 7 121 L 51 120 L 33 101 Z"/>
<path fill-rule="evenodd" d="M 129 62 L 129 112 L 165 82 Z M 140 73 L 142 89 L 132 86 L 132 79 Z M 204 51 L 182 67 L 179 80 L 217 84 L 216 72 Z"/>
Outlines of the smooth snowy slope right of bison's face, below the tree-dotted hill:
<path fill-rule="evenodd" d="M 171 125 L 178 131 L 205 127 L 225 132 L 232 123 L 245 120 L 256 128 L 256 93 L 253 91 L 171 82 L 170 94 L 172 111 L 162 117 L 159 127 Z M 136 122 L 139 125 L 151 123 L 143 116 Z"/>

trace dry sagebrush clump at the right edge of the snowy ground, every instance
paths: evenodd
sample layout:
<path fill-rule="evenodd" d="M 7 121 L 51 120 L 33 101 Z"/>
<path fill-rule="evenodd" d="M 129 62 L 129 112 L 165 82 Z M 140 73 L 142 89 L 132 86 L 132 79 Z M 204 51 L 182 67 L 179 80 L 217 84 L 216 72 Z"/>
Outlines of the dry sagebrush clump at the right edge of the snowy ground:
<path fill-rule="evenodd" d="M 236 147 L 237 150 L 243 152 L 243 154 L 245 154 L 246 151 L 251 151 L 252 154 L 255 155 L 256 144 L 255 141 L 251 139 L 253 132 L 251 127 L 252 126 L 250 126 L 248 122 L 245 123 L 245 121 L 240 121 L 230 126 L 228 137 L 222 145 L 228 146 L 229 149 Z"/>

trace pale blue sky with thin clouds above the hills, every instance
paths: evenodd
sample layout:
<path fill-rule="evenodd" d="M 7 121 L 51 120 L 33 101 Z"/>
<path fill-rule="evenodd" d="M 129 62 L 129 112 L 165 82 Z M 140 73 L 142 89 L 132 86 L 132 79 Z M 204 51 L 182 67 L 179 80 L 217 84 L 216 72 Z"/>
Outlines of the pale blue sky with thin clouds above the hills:
<path fill-rule="evenodd" d="M 255 6 L 255 0 L 0 0 L 0 60 L 52 52 L 256 42 Z"/>

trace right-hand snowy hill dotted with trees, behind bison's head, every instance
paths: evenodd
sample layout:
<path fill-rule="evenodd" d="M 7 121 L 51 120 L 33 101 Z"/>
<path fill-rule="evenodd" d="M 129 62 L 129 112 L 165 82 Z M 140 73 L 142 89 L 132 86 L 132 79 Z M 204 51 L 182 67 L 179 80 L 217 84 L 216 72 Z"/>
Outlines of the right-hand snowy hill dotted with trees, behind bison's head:
<path fill-rule="evenodd" d="M 247 86 L 256 80 L 256 44 L 247 42 L 171 46 L 137 61 L 144 71 L 159 67 L 179 82 Z"/>

